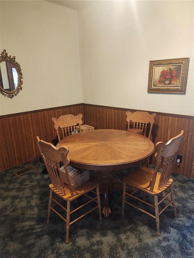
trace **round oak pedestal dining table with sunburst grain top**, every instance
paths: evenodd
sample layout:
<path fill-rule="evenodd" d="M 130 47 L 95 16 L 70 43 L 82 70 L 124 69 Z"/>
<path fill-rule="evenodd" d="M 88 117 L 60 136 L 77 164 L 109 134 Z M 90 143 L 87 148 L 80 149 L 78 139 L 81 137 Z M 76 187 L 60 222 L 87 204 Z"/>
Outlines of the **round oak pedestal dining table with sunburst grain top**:
<path fill-rule="evenodd" d="M 111 214 L 108 193 L 122 189 L 122 181 L 113 178 L 113 171 L 134 167 L 147 161 L 154 152 L 151 140 L 140 134 L 114 129 L 92 130 L 72 134 L 62 139 L 57 148 L 69 149 L 70 165 L 95 170 L 100 193 L 104 194 L 103 215 Z"/>

